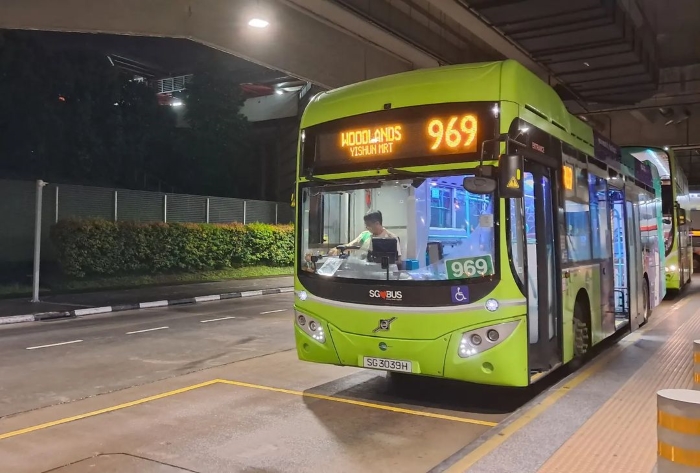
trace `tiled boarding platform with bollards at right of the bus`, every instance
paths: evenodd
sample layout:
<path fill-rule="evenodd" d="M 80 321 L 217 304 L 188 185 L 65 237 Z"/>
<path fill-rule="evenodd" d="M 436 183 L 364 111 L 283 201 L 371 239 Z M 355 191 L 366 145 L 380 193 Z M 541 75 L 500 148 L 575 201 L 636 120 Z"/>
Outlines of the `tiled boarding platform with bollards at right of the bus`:
<path fill-rule="evenodd" d="M 652 473 L 657 465 L 657 392 L 693 389 L 700 339 L 700 284 L 656 308 L 649 322 L 456 453 L 431 473 Z M 693 422 L 695 465 L 700 431 Z M 672 453 L 661 458 L 670 460 Z"/>

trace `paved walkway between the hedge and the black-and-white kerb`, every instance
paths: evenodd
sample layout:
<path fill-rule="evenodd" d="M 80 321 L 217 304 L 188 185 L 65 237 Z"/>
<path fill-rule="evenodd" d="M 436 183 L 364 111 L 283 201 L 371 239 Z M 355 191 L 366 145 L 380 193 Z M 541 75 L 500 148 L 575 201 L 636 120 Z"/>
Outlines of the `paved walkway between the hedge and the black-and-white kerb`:
<path fill-rule="evenodd" d="M 187 299 L 191 297 L 224 294 L 229 292 L 254 291 L 293 286 L 291 276 L 239 279 L 222 282 L 182 284 L 176 286 L 153 286 L 119 291 L 100 291 L 83 294 L 58 294 L 44 296 L 41 302 L 29 302 L 29 298 L 0 300 L 0 317 L 12 315 L 60 312 L 89 307 L 135 304 L 156 300 Z"/>

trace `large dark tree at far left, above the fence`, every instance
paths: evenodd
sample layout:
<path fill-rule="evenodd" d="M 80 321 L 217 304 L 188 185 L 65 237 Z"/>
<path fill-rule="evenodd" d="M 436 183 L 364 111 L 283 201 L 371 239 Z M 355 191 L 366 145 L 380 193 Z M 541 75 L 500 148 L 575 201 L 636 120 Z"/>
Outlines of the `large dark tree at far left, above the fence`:
<path fill-rule="evenodd" d="M 146 84 L 16 33 L 0 35 L 0 109 L 0 169 L 19 177 L 138 187 L 173 147 L 174 117 Z"/>

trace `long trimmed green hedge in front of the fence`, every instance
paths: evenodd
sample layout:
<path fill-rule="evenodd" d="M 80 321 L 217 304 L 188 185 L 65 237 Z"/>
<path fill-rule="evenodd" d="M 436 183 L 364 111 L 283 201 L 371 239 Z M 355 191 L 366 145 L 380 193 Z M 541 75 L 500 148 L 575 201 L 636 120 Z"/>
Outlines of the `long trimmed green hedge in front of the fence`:
<path fill-rule="evenodd" d="M 294 261 L 291 225 L 63 220 L 51 227 L 51 242 L 63 272 L 77 278 Z"/>

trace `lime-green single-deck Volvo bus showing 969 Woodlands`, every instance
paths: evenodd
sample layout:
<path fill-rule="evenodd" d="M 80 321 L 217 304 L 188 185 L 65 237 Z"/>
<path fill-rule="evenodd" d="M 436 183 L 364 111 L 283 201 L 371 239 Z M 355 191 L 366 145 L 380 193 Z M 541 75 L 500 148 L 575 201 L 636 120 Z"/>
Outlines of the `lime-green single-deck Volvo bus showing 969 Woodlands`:
<path fill-rule="evenodd" d="M 298 357 L 534 383 L 648 319 L 659 198 L 512 60 L 321 93 L 299 138 Z"/>

